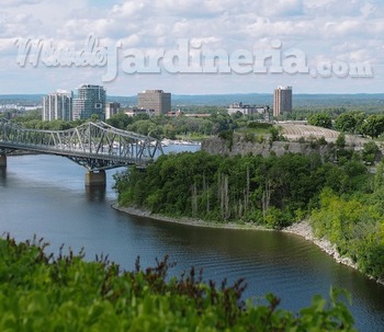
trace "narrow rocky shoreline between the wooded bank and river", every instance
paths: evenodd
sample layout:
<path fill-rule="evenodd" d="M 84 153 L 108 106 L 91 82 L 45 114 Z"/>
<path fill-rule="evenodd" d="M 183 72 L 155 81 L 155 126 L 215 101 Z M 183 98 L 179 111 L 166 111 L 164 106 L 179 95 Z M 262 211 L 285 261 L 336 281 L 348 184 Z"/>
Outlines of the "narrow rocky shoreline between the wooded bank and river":
<path fill-rule="evenodd" d="M 151 214 L 147 209 L 137 208 L 137 207 L 122 207 L 118 206 L 117 203 L 112 204 L 112 208 L 142 218 L 150 218 L 154 220 L 172 222 L 172 224 L 181 224 L 192 227 L 208 227 L 208 228 L 222 228 L 222 229 L 249 229 L 249 230 L 262 230 L 262 231 L 281 231 L 285 233 L 291 233 L 301 238 L 304 238 L 306 241 L 310 241 L 313 244 L 317 245 L 321 251 L 326 252 L 330 255 L 337 263 L 347 265 L 353 270 L 359 271 L 359 267 L 355 263 L 352 262 L 350 257 L 341 256 L 337 251 L 336 244 L 332 244 L 327 239 L 318 239 L 315 237 L 312 227 L 307 220 L 298 221 L 290 227 L 286 227 L 282 230 L 268 229 L 263 226 L 253 226 L 253 225 L 240 225 L 236 222 L 228 224 L 218 224 L 218 222 L 210 222 L 201 219 L 181 217 L 181 218 L 172 218 L 162 215 Z M 360 271 L 359 271 L 360 272 Z M 384 281 L 375 279 L 369 275 L 366 275 L 370 279 L 375 281 L 376 283 L 384 285 Z"/>

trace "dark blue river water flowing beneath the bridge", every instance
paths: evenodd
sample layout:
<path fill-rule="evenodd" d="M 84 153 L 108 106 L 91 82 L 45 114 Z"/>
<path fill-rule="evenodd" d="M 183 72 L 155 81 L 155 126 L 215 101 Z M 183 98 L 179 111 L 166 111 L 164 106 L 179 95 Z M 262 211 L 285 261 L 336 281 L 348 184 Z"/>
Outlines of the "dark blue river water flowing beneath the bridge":
<path fill-rule="evenodd" d="M 193 149 L 193 148 L 191 148 Z M 352 295 L 350 310 L 360 331 L 384 331 L 384 286 L 337 264 L 304 239 L 281 232 L 194 228 L 132 217 L 111 208 L 116 199 L 113 174 L 105 190 L 84 187 L 86 170 L 54 156 L 8 157 L 0 168 L 0 233 L 16 240 L 44 238 L 57 253 L 65 244 L 86 259 L 108 254 L 125 270 L 154 266 L 156 257 L 177 262 L 180 275 L 192 265 L 205 279 L 229 283 L 245 277 L 245 297 L 268 293 L 281 297 L 281 308 L 297 311 L 315 294 L 328 298 L 331 286 Z"/>

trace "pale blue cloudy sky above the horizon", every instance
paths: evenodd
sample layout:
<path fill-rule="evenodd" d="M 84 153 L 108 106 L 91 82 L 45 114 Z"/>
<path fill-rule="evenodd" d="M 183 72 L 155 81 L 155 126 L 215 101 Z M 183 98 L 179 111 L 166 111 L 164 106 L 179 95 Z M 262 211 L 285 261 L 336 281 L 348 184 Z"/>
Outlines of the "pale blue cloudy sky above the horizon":
<path fill-rule="evenodd" d="M 382 93 L 384 1 L 2 0 L 0 94 Z"/>

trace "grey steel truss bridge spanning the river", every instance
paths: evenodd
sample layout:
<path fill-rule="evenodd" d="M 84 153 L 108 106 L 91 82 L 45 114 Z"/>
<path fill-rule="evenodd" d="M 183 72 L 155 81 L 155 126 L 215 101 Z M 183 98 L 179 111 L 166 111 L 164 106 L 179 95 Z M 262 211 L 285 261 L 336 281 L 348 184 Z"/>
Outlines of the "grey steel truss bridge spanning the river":
<path fill-rule="evenodd" d="M 66 157 L 88 170 L 86 185 L 105 184 L 105 170 L 146 168 L 163 153 L 159 140 L 103 122 L 67 130 L 37 130 L 0 119 L 0 165 L 7 165 L 7 154 L 15 150 Z"/>

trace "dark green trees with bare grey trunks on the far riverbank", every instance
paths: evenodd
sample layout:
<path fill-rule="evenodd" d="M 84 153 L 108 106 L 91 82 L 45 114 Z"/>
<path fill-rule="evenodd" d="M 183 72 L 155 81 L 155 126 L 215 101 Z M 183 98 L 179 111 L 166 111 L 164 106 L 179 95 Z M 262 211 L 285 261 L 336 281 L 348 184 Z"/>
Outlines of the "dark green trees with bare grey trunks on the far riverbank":
<path fill-rule="evenodd" d="M 338 167 L 318 154 L 228 158 L 200 151 L 162 156 L 145 172 L 120 174 L 116 191 L 120 204 L 153 213 L 280 228 L 303 218 L 323 187 L 357 190 L 357 176 L 370 176 L 360 162 Z"/>

